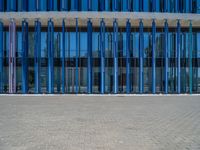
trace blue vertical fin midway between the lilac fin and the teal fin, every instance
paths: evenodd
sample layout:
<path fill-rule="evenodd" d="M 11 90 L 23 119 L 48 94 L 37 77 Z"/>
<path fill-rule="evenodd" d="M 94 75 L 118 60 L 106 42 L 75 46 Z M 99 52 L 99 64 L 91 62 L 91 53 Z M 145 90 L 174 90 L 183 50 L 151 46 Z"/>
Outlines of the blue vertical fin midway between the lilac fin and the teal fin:
<path fill-rule="evenodd" d="M 100 23 L 101 94 L 105 93 L 105 22 Z"/>

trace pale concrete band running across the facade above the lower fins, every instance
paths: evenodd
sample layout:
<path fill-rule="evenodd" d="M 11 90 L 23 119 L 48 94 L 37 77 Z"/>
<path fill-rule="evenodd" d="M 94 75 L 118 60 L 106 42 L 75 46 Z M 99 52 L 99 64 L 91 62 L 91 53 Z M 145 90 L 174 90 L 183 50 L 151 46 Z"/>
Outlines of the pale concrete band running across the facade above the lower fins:
<path fill-rule="evenodd" d="M 149 13 L 149 12 L 2 12 L 0 20 L 8 26 L 10 19 L 15 19 L 17 25 L 21 25 L 23 19 L 29 22 L 29 26 L 34 25 L 34 21 L 39 19 L 42 26 L 47 25 L 51 18 L 55 26 L 62 25 L 62 19 L 66 20 L 67 26 L 75 25 L 75 18 L 78 18 L 79 26 L 86 26 L 90 18 L 94 26 L 99 26 L 100 20 L 104 18 L 106 26 L 113 25 L 113 19 L 118 20 L 119 26 L 125 26 L 126 20 L 130 19 L 132 26 L 138 26 L 139 20 L 142 19 L 145 27 L 150 27 L 152 19 L 155 19 L 156 25 L 163 27 L 167 19 L 169 26 L 176 27 L 177 20 L 180 20 L 182 27 L 188 27 L 192 21 L 193 27 L 200 27 L 200 14 L 184 13 Z"/>

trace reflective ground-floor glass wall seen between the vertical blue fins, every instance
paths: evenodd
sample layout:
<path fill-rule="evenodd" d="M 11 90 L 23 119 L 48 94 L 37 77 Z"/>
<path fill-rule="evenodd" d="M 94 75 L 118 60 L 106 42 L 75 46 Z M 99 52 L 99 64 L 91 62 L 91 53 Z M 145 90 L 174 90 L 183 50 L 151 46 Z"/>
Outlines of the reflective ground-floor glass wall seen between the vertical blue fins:
<path fill-rule="evenodd" d="M 92 22 L 92 21 L 91 21 Z M 62 34 L 62 28 L 55 28 L 52 42 L 54 43 L 54 93 L 61 93 L 62 87 L 62 61 L 63 35 L 65 52 L 65 93 L 88 93 L 88 46 L 92 46 L 91 73 L 92 93 L 101 93 L 101 44 L 100 27 L 92 27 L 92 40 L 88 40 L 88 29 L 79 27 L 66 27 Z M 35 93 L 34 57 L 35 57 L 35 32 L 34 28 L 28 29 L 28 93 Z M 3 90 L 8 93 L 8 58 L 9 58 L 9 32 L 7 28 L 0 30 L 3 40 Z M 114 93 L 114 49 L 113 27 L 105 24 L 105 93 Z M 164 28 L 157 28 L 155 34 L 155 92 L 165 92 L 165 63 L 164 63 Z M 41 30 L 41 67 L 40 84 L 41 93 L 47 93 L 48 87 L 48 40 L 47 28 Z M 118 93 L 127 91 L 127 32 L 125 27 L 119 27 L 117 33 L 118 54 Z M 177 73 L 177 29 L 169 28 L 168 33 L 168 93 L 178 93 Z M 180 32 L 180 93 L 200 92 L 200 33 L 198 29 L 190 30 L 181 28 Z M 144 92 L 152 93 L 152 29 L 144 28 Z M 22 63 L 23 63 L 23 36 L 22 28 L 17 28 L 16 35 L 16 92 L 22 93 Z M 130 32 L 130 93 L 139 93 L 139 50 L 140 34 L 138 27 L 131 27 Z M 191 59 L 190 59 L 191 58 Z"/>

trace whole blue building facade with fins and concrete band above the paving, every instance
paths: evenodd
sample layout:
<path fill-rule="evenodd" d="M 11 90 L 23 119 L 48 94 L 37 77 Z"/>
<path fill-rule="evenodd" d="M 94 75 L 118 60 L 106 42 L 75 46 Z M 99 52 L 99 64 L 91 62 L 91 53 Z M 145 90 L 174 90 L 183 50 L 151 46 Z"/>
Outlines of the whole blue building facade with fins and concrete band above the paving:
<path fill-rule="evenodd" d="M 1 94 L 199 94 L 200 0 L 0 0 Z"/>

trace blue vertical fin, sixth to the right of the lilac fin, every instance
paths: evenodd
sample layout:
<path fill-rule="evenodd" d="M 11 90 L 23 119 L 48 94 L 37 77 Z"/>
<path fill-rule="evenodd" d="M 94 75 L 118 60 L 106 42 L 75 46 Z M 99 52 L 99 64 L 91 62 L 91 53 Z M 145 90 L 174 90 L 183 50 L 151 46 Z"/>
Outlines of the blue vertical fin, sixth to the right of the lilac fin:
<path fill-rule="evenodd" d="M 87 68 L 87 92 L 92 93 L 92 22 L 88 20 L 87 23 L 87 57 L 88 57 L 88 68 Z"/>

